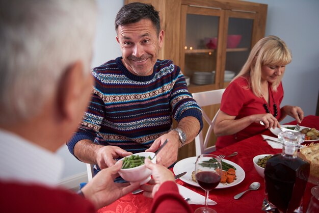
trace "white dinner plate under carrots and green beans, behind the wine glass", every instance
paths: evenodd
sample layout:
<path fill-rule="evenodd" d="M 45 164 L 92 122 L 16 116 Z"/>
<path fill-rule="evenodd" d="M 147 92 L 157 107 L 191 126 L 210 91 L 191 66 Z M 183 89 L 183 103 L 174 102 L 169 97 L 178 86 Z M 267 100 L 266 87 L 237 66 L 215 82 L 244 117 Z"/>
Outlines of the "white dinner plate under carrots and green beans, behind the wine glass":
<path fill-rule="evenodd" d="M 194 185 L 195 187 L 200 187 L 197 182 L 194 182 L 192 180 L 192 172 L 195 170 L 195 162 L 196 162 L 196 156 L 195 157 L 188 157 L 185 159 L 180 160 L 174 165 L 173 171 L 175 174 L 179 174 L 182 172 L 187 171 L 185 175 L 180 177 L 179 179 L 184 181 L 185 183 Z M 232 183 L 219 183 L 215 189 L 224 189 L 228 187 L 233 187 L 234 185 L 237 185 L 241 183 L 245 178 L 245 171 L 242 167 L 238 166 L 237 164 L 227 161 L 226 159 L 223 159 L 223 162 L 228 163 L 236 168 L 236 177 L 237 179 L 234 180 Z"/>

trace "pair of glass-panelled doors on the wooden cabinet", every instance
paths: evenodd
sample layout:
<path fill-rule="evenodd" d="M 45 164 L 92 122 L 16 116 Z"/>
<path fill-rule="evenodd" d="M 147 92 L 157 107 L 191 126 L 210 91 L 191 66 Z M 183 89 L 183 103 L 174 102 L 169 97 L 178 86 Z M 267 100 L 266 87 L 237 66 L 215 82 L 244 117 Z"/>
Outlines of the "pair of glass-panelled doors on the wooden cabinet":
<path fill-rule="evenodd" d="M 249 11 L 181 7 L 179 66 L 191 92 L 228 86 L 248 58 L 256 20 Z"/>

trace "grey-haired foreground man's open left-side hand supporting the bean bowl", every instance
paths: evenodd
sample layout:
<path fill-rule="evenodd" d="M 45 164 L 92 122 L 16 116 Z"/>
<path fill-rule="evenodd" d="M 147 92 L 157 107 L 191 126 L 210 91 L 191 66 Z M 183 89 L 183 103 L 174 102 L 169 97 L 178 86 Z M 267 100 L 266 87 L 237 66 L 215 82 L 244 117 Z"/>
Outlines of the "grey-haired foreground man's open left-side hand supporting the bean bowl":
<path fill-rule="evenodd" d="M 84 197 L 89 199 L 96 209 L 109 205 L 120 197 L 136 190 L 140 182 L 134 183 L 115 183 L 118 171 L 122 167 L 122 161 L 114 166 L 101 170 L 91 181 L 82 189 Z"/>

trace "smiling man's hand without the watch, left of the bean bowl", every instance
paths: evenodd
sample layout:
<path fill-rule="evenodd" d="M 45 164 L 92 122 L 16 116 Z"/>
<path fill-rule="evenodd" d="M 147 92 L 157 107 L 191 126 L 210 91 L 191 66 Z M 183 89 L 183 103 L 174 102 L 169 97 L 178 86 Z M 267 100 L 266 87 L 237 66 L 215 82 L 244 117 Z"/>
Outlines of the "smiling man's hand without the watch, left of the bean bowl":
<path fill-rule="evenodd" d="M 101 146 L 95 153 L 95 159 L 99 168 L 105 169 L 116 163 L 115 158 L 119 156 L 125 157 L 131 154 L 131 152 L 127 152 L 117 146 Z"/>

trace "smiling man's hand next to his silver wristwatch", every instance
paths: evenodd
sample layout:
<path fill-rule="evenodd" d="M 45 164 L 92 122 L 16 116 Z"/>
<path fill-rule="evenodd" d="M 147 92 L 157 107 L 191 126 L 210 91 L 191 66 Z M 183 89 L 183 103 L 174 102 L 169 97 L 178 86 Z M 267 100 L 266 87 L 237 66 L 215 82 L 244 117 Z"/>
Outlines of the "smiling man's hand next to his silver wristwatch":
<path fill-rule="evenodd" d="M 168 134 L 157 138 L 151 147 L 145 151 L 155 152 L 159 146 L 165 142 L 166 139 L 168 139 L 167 144 L 156 155 L 156 164 L 169 167 L 177 160 L 178 148 L 181 146 L 177 131 L 170 131 Z"/>

